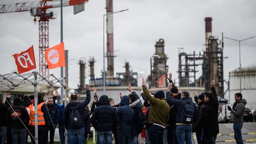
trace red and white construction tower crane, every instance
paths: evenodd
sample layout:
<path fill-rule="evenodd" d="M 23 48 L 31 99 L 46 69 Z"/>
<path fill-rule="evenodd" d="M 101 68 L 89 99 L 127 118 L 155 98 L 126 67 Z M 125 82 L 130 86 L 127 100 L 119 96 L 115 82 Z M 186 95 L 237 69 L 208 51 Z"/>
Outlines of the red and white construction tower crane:
<path fill-rule="evenodd" d="M 47 5 L 47 2 L 53 3 L 56 1 L 58 0 L 41 0 L 39 2 L 21 2 L 16 4 L 0 5 L 0 14 L 30 11 L 30 15 L 34 17 L 35 23 L 36 17 L 39 17 L 39 73 L 41 75 L 49 75 L 45 51 L 49 47 L 49 20 L 55 18 L 53 17 L 53 12 L 47 11 L 47 9 L 60 7 L 60 4 Z M 63 7 L 85 4 L 86 2 L 88 2 L 88 0 L 63 1 Z"/>

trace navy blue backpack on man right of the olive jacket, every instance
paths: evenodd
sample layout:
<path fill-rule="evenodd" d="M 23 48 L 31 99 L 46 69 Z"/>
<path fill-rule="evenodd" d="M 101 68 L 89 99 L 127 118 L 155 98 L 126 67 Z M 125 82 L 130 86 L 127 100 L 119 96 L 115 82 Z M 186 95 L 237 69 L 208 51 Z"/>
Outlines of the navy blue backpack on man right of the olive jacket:
<path fill-rule="evenodd" d="M 180 114 L 180 121 L 182 123 L 191 124 L 194 118 L 194 105 L 191 101 L 185 101 L 185 106 Z"/>

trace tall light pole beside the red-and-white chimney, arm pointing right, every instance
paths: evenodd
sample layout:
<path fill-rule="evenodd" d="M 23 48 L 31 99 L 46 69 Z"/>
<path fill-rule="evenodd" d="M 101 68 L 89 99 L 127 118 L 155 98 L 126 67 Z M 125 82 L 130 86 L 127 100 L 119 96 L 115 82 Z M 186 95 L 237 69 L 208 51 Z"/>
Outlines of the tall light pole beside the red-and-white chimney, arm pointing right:
<path fill-rule="evenodd" d="M 103 94 L 105 94 L 105 16 L 128 10 L 129 9 L 123 9 L 121 11 L 111 12 L 103 15 Z"/>

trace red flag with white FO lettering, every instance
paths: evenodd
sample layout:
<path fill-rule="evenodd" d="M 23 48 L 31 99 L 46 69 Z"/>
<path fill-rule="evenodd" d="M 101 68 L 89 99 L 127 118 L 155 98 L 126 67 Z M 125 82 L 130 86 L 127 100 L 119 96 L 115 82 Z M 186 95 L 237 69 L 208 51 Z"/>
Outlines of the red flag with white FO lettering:
<path fill-rule="evenodd" d="M 34 59 L 34 49 L 31 46 L 29 49 L 14 54 L 15 63 L 17 65 L 18 73 L 24 73 L 32 69 L 36 69 L 36 60 Z"/>

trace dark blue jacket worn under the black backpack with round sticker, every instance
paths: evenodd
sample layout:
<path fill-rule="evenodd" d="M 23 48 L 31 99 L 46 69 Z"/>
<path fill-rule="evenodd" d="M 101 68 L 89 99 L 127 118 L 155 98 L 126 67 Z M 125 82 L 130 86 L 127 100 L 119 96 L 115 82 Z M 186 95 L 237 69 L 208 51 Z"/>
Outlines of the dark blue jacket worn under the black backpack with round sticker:
<path fill-rule="evenodd" d="M 71 124 L 69 122 L 69 115 L 71 113 L 72 110 L 74 110 L 76 108 L 76 106 L 78 105 L 78 111 L 81 114 L 83 120 L 84 121 L 84 113 L 85 113 L 85 107 L 89 104 L 90 100 L 91 100 L 91 93 L 90 91 L 86 91 L 87 93 L 87 98 L 82 101 L 81 103 L 79 103 L 79 101 L 76 100 L 72 100 L 68 105 L 66 105 L 65 107 L 65 111 L 64 111 L 64 124 L 66 129 L 71 129 Z"/>

